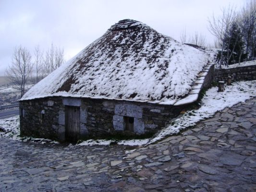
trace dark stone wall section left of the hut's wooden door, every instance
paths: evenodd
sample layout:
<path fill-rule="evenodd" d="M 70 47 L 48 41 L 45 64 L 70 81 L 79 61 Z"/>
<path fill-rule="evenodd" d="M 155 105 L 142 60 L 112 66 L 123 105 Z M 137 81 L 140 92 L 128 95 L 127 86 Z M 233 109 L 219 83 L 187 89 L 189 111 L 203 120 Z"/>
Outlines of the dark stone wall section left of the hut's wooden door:
<path fill-rule="evenodd" d="M 61 132 L 61 128 L 59 127 L 59 111 L 61 110 L 64 110 L 62 100 L 54 97 L 20 101 L 21 134 L 41 138 L 61 139 L 58 138 L 58 132 Z M 65 130 L 62 128 L 63 131 Z"/>

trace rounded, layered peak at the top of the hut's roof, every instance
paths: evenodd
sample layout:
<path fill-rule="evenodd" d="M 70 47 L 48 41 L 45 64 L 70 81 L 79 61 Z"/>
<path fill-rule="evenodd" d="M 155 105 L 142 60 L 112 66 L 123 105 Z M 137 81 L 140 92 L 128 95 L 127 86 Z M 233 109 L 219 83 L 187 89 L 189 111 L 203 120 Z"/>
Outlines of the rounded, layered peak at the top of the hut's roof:
<path fill-rule="evenodd" d="M 115 30 L 122 30 L 122 29 L 134 29 L 138 26 L 143 26 L 143 25 L 145 26 L 146 24 L 143 24 L 133 19 L 123 19 L 117 22 L 116 24 L 112 25 L 110 27 L 110 30 L 115 31 Z"/>

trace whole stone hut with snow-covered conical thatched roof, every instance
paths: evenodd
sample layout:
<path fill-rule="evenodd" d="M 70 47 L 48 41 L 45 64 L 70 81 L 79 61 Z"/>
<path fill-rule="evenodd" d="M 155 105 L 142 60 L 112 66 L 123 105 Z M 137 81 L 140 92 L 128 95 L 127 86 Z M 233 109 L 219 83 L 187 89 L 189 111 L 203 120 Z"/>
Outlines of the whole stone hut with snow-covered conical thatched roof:
<path fill-rule="evenodd" d="M 74 142 L 157 132 L 209 84 L 208 57 L 122 20 L 19 100 L 21 134 Z"/>

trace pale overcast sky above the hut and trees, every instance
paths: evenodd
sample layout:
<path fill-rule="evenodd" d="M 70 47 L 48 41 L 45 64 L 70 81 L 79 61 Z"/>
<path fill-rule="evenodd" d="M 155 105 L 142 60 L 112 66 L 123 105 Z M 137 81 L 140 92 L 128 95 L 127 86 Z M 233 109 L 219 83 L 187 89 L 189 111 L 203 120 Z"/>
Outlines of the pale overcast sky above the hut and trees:
<path fill-rule="evenodd" d="M 207 18 L 229 4 L 239 10 L 246 0 L 0 0 L 0 75 L 12 62 L 15 46 L 31 53 L 37 44 L 64 48 L 65 59 L 102 36 L 122 19 L 141 21 L 180 41 L 181 32 L 213 36 Z"/>

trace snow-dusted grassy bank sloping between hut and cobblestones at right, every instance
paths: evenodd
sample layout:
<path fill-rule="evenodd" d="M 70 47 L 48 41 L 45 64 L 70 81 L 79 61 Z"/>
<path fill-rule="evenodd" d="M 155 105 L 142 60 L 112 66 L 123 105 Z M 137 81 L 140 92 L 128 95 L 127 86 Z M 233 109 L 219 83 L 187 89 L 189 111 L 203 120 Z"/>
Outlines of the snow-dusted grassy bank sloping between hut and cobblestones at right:
<path fill-rule="evenodd" d="M 201 107 L 187 111 L 181 118 L 174 120 L 169 127 L 161 130 L 148 144 L 154 143 L 172 134 L 177 134 L 187 127 L 194 126 L 200 120 L 212 117 L 217 111 L 244 102 L 256 96 L 256 81 L 242 81 L 226 86 L 224 92 L 217 92 L 218 87 L 208 89 L 202 98 Z"/>

